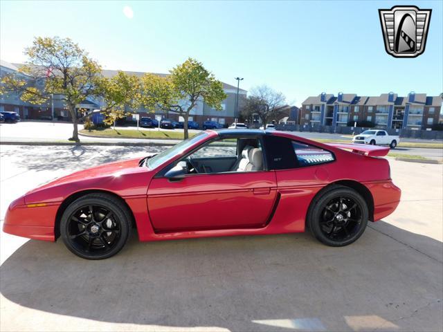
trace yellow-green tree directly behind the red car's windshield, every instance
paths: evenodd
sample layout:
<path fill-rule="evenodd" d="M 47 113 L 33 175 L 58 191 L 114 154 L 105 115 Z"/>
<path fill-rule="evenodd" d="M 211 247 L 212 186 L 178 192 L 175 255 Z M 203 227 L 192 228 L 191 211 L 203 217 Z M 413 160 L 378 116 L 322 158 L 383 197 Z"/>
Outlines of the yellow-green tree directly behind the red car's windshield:
<path fill-rule="evenodd" d="M 221 110 L 226 93 L 223 84 L 195 59 L 187 59 L 170 73 L 168 77 L 146 74 L 142 78 L 142 104 L 151 110 L 159 107 L 183 116 L 184 138 L 188 138 L 189 114 L 197 102 L 204 100 L 209 107 Z"/>

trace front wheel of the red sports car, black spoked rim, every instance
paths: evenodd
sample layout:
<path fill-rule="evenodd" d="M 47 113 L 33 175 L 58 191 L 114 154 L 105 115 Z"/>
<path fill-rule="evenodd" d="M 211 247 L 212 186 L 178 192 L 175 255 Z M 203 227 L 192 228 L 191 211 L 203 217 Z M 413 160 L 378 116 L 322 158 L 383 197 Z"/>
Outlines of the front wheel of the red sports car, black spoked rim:
<path fill-rule="evenodd" d="M 122 250 L 131 226 L 131 213 L 118 198 L 111 194 L 86 194 L 64 210 L 60 235 L 66 248 L 78 257 L 106 259 Z"/>

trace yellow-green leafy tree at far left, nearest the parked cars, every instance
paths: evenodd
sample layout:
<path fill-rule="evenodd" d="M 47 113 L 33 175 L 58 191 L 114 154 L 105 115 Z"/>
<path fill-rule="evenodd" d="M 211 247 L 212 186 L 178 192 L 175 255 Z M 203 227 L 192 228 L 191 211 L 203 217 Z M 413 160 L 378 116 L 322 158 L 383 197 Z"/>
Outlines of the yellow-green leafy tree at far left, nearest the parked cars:
<path fill-rule="evenodd" d="M 20 77 L 6 76 L 3 89 L 19 93 L 21 100 L 42 104 L 51 94 L 62 96 L 73 121 L 70 140 L 78 139 L 78 114 L 75 105 L 96 95 L 97 80 L 101 68 L 97 62 L 71 39 L 36 37 L 33 46 L 25 49 L 26 65 L 20 68 L 28 76 L 28 82 Z M 42 83 L 42 89 L 35 87 Z"/>

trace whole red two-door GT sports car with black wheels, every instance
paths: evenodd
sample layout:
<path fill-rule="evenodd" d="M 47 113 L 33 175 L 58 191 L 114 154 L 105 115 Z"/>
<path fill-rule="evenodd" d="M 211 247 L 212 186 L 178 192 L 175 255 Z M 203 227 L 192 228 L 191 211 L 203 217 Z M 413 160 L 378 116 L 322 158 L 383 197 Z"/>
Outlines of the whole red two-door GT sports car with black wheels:
<path fill-rule="evenodd" d="M 87 259 L 140 241 L 303 232 L 329 246 L 358 239 L 392 213 L 400 190 L 388 147 L 322 144 L 279 131 L 205 131 L 161 154 L 109 163 L 31 190 L 3 231 L 62 237 Z"/>

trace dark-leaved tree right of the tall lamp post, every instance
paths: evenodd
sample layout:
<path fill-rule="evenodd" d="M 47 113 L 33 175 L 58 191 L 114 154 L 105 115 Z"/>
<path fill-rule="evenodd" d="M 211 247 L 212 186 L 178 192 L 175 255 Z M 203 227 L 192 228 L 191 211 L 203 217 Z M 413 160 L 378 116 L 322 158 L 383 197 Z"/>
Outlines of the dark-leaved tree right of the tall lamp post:
<path fill-rule="evenodd" d="M 286 98 L 281 92 L 274 91 L 266 85 L 257 86 L 246 99 L 242 115 L 252 118 L 256 114 L 266 128 L 269 121 L 278 120 L 284 114 L 284 100 Z"/>

